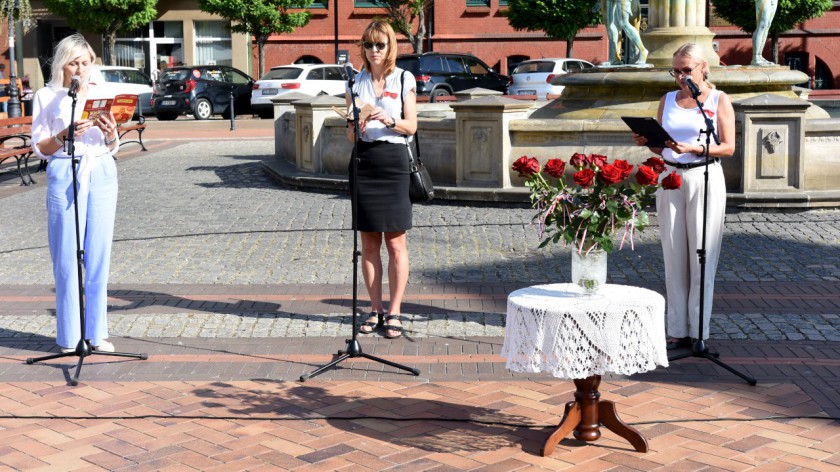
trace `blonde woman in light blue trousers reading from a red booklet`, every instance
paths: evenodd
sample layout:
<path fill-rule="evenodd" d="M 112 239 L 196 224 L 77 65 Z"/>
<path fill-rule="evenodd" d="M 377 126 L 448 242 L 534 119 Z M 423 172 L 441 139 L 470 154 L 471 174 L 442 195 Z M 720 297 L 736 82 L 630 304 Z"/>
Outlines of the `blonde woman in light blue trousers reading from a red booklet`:
<path fill-rule="evenodd" d="M 106 340 L 106 312 L 117 209 L 113 153 L 119 147 L 119 135 L 110 113 L 95 121 L 81 119 L 85 98 L 96 96 L 97 85 L 91 80 L 95 59 L 83 36 L 62 39 L 55 47 L 50 81 L 33 99 L 32 150 L 48 160 L 47 234 L 55 277 L 56 343 L 63 352 L 74 351 L 82 334 L 93 350 L 114 351 L 114 345 Z M 76 114 L 71 117 L 68 92 L 74 76 L 80 86 Z M 75 166 L 65 144 L 70 126 L 75 127 Z M 78 181 L 79 235 L 84 251 L 85 333 L 81 333 L 79 317 L 73 172 Z"/>

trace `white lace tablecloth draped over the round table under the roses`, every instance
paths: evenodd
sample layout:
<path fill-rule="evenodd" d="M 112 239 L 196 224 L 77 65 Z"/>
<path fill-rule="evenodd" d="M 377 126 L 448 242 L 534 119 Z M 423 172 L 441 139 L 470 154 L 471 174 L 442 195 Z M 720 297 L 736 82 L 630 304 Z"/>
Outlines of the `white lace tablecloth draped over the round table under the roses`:
<path fill-rule="evenodd" d="M 523 288 L 508 296 L 502 356 L 511 371 L 564 379 L 646 372 L 668 365 L 664 314 L 662 295 L 644 288 Z"/>

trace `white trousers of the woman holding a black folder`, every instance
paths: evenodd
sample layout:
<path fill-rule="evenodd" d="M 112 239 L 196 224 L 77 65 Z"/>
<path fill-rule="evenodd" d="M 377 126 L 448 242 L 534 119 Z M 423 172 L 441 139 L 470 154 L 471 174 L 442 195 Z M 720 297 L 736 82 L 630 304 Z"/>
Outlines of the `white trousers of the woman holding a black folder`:
<path fill-rule="evenodd" d="M 700 260 L 697 250 L 703 235 L 704 167 L 662 173 L 662 178 L 675 171 L 682 176 L 679 190 L 657 192 L 656 212 L 665 260 L 667 309 L 665 330 L 675 338 L 699 338 L 700 332 Z M 723 241 L 726 212 L 726 182 L 721 165 L 709 165 L 709 199 L 706 216 L 706 277 L 703 305 L 702 339 L 709 337 L 715 272 Z"/>

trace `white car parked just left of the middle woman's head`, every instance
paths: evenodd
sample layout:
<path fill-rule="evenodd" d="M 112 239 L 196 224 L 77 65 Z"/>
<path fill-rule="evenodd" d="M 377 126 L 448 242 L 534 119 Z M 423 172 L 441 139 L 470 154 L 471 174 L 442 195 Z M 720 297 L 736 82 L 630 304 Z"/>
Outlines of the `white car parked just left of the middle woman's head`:
<path fill-rule="evenodd" d="M 347 86 L 344 67 L 337 64 L 289 64 L 272 67 L 251 90 L 251 109 L 262 118 L 274 116 L 271 99 L 289 92 L 341 95 Z"/>

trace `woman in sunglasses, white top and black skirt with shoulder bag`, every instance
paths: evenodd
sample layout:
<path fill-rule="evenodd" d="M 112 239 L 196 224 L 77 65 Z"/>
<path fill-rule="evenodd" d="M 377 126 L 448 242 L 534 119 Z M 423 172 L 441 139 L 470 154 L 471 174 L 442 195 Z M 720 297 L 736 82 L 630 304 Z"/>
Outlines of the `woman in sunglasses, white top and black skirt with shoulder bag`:
<path fill-rule="evenodd" d="M 405 137 L 417 130 L 416 82 L 410 72 L 396 67 L 397 39 L 387 23 L 368 25 L 361 47 L 365 67 L 356 76 L 353 91 L 360 107 L 370 104 L 373 110 L 366 118 L 360 117 L 365 119 L 359 123 L 361 136 L 356 142 L 359 165 L 354 204 L 358 205 L 356 228 L 362 237 L 362 275 L 372 311 L 359 332 L 372 333 L 384 324 L 385 337 L 398 338 L 402 335 L 400 304 L 408 283 L 405 232 L 411 228 Z M 346 96 L 349 108 L 349 90 Z M 353 141 L 352 123 L 347 133 Z M 382 305 L 383 240 L 389 258 L 387 316 Z"/>

